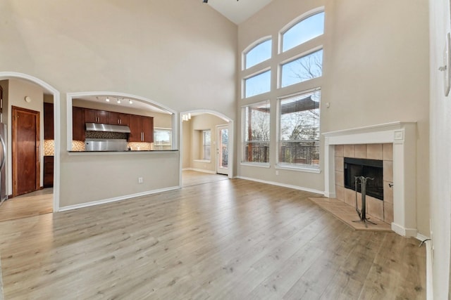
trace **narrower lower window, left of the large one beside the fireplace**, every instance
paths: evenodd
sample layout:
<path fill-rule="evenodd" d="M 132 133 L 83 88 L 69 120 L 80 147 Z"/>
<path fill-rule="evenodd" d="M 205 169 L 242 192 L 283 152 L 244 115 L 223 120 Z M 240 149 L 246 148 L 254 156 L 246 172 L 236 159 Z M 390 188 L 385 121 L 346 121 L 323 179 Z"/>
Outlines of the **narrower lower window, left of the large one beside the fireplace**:
<path fill-rule="evenodd" d="M 243 162 L 269 162 L 269 100 L 242 108 Z"/>

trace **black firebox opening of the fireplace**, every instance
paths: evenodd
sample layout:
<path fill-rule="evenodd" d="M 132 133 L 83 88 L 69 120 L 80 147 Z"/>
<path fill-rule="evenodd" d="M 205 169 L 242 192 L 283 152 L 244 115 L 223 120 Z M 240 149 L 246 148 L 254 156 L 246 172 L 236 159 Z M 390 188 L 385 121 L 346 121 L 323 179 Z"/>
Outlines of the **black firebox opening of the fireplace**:
<path fill-rule="evenodd" d="M 345 188 L 355 190 L 356 176 L 374 178 L 366 181 L 366 195 L 383 200 L 382 160 L 345 157 Z M 360 190 L 360 181 L 357 181 L 357 192 Z"/>

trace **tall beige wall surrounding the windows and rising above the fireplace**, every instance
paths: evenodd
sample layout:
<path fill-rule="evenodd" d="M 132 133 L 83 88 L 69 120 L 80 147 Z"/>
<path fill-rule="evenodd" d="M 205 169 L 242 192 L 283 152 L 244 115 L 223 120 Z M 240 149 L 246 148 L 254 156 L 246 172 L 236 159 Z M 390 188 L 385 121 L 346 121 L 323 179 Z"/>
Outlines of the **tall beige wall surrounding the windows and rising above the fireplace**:
<path fill-rule="evenodd" d="M 418 229 L 428 235 L 428 5 L 424 0 L 278 0 L 238 27 L 241 53 L 257 39 L 278 39 L 279 30 L 295 18 L 324 6 L 323 77 L 275 89 L 258 100 L 271 100 L 271 140 L 276 141 L 276 99 L 321 86 L 321 132 L 388 122 L 417 122 Z M 308 43 L 307 43 L 308 44 Z M 306 47 L 308 48 L 308 47 Z M 273 46 L 273 56 L 285 58 Z M 240 65 L 240 64 L 239 64 Z M 278 65 L 271 64 L 273 73 Z M 273 77 L 275 81 L 275 77 Z M 239 100 L 240 106 L 247 100 Z M 329 103 L 330 107 L 326 107 Z M 273 112 L 274 111 L 274 112 Z M 238 159 L 241 128 L 238 123 Z M 323 141 L 321 149 L 323 149 Z M 238 166 L 238 175 L 324 190 L 323 174 L 273 169 L 276 144 L 271 143 L 271 168 Z M 321 152 L 321 170 L 323 165 Z"/>

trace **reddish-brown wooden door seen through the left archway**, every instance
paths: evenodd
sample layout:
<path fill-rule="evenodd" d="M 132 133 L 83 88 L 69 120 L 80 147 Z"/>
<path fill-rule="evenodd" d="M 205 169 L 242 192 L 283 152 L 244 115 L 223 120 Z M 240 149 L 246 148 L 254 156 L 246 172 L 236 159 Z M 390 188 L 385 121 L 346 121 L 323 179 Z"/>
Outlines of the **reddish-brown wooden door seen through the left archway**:
<path fill-rule="evenodd" d="M 12 107 L 13 197 L 40 188 L 39 112 Z"/>

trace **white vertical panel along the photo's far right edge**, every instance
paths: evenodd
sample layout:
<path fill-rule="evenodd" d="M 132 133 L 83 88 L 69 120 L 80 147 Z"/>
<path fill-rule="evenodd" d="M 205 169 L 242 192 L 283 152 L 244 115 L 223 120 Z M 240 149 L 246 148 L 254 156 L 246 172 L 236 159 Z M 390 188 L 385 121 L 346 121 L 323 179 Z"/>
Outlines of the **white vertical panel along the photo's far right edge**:
<path fill-rule="evenodd" d="M 450 7 L 447 0 L 431 0 L 431 237 L 434 247 L 433 296 L 449 299 L 451 235 L 451 96 L 443 93 L 445 34 L 450 32 Z M 449 66 L 448 66 L 449 67 Z"/>

